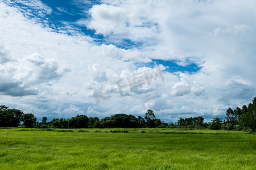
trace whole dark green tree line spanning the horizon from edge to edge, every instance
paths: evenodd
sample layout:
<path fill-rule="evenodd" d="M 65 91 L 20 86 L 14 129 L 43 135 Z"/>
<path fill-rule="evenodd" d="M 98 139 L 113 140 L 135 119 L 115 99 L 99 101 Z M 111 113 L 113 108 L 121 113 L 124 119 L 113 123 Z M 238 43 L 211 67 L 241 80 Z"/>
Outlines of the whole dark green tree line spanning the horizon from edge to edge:
<path fill-rule="evenodd" d="M 24 114 L 18 109 L 9 109 L 0 105 L 0 127 L 26 128 L 209 128 L 223 130 L 256 130 L 256 97 L 248 107 L 243 105 L 242 109 L 229 108 L 226 111 L 226 120 L 213 118 L 211 122 L 205 123 L 204 117 L 179 118 L 177 122 L 169 124 L 155 117 L 154 111 L 148 110 L 144 117 L 127 114 L 114 114 L 110 117 L 98 118 L 77 115 L 69 119 L 53 118 L 42 122 L 36 121 L 34 114 Z"/>

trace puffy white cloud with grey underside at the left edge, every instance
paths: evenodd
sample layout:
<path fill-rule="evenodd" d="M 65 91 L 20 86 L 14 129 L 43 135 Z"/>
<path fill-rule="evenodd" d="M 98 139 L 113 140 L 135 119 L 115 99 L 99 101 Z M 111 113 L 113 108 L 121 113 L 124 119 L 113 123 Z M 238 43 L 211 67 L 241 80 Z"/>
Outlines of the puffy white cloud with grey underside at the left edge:
<path fill-rule="evenodd" d="M 38 54 L 2 63 L 0 65 L 1 92 L 11 96 L 37 95 L 38 86 L 57 80 L 58 64 L 54 59 L 44 60 Z"/>

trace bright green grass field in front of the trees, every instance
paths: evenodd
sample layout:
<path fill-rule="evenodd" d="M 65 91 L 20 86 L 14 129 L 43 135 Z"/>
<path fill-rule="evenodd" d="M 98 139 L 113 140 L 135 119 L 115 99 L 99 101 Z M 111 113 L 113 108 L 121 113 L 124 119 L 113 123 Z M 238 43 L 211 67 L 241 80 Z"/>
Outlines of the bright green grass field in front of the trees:
<path fill-rule="evenodd" d="M 0 129 L 0 169 L 256 169 L 255 155 L 241 131 Z"/>

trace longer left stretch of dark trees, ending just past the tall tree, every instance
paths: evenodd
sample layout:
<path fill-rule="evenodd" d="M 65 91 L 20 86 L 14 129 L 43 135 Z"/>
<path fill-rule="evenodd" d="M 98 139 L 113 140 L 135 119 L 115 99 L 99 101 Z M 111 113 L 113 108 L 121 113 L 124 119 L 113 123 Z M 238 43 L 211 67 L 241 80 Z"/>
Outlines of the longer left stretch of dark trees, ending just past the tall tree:
<path fill-rule="evenodd" d="M 110 117 L 98 118 L 77 115 L 72 118 L 53 118 L 47 121 L 47 117 L 42 118 L 42 122 L 36 121 L 34 114 L 24 114 L 18 109 L 9 109 L 5 105 L 0 105 L 0 127 L 24 128 L 160 128 L 168 126 L 158 118 L 155 118 L 154 111 L 148 110 L 144 118 L 127 114 L 114 114 Z"/>

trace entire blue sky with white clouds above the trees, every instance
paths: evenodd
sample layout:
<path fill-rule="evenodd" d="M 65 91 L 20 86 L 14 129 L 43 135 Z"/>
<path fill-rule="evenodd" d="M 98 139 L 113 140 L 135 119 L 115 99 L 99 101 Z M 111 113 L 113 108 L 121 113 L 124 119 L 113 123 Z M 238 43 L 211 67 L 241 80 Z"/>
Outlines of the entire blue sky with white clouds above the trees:
<path fill-rule="evenodd" d="M 0 104 L 38 120 L 224 118 L 256 96 L 255 3 L 1 0 Z"/>

